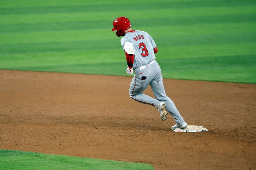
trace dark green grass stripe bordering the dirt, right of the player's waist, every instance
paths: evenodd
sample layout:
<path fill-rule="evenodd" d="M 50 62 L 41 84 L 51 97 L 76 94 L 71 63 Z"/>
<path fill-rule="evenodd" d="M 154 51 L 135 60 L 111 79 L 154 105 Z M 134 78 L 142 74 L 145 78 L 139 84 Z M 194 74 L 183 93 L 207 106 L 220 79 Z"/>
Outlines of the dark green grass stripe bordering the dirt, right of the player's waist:
<path fill-rule="evenodd" d="M 158 63 L 164 67 L 165 78 L 256 83 L 256 55 L 161 59 Z"/>

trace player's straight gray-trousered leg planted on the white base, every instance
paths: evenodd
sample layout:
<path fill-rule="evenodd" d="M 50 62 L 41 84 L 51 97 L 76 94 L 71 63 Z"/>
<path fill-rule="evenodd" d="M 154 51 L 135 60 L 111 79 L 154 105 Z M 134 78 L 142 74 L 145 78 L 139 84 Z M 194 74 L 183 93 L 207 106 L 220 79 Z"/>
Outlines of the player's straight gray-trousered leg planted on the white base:
<path fill-rule="evenodd" d="M 163 77 L 158 64 L 155 65 L 154 70 L 156 75 L 155 79 L 151 81 L 150 86 L 156 99 L 159 101 L 164 101 L 166 103 L 166 110 L 172 115 L 177 124 L 185 122 L 173 101 L 165 93 Z"/>

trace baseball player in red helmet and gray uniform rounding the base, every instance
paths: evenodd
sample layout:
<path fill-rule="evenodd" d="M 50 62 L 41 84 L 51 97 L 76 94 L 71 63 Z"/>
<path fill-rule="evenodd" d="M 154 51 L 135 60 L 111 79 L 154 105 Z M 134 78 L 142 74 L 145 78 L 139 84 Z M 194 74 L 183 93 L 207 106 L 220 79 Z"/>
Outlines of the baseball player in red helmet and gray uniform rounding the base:
<path fill-rule="evenodd" d="M 118 37 L 123 36 L 121 45 L 127 60 L 126 72 L 132 74 L 133 70 L 135 71 L 130 85 L 130 97 L 140 103 L 156 107 L 163 121 L 168 115 L 165 111 L 166 108 L 176 122 L 172 126 L 172 130 L 187 127 L 188 124 L 180 115 L 173 101 L 165 94 L 161 69 L 155 60 L 157 53 L 155 41 L 145 31 L 132 30 L 128 18 L 116 18 L 113 21 L 113 26 L 112 31 L 116 31 Z M 157 100 L 143 94 L 148 85 L 151 86 Z"/>

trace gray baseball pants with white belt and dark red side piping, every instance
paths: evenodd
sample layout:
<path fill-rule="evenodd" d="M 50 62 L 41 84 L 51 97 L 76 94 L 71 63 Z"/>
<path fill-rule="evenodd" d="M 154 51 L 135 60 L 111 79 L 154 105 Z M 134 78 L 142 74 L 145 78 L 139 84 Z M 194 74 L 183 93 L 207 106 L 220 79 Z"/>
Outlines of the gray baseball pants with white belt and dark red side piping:
<path fill-rule="evenodd" d="M 148 85 L 151 86 L 157 100 L 142 93 Z M 156 60 L 135 69 L 129 94 L 133 100 L 155 107 L 157 107 L 160 101 L 164 101 L 166 103 L 166 110 L 172 115 L 175 122 L 178 124 L 185 122 L 173 101 L 165 93 L 161 69 Z"/>

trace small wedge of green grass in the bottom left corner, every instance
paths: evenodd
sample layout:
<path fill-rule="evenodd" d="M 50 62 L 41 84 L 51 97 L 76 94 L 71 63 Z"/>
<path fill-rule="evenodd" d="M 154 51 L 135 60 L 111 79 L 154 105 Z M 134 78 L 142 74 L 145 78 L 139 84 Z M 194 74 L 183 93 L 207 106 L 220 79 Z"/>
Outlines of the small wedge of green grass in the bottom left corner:
<path fill-rule="evenodd" d="M 144 169 L 148 164 L 0 149 L 0 169 Z"/>

